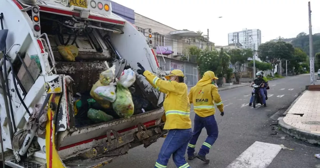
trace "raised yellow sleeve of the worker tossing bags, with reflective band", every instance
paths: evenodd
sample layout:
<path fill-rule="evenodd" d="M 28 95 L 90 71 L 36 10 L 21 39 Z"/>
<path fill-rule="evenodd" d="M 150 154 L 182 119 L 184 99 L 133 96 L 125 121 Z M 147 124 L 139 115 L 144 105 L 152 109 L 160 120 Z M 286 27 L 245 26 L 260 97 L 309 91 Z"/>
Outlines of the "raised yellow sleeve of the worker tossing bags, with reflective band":
<path fill-rule="evenodd" d="M 143 76 L 145 76 L 147 78 L 147 80 L 150 82 L 150 84 L 153 84 L 154 86 L 158 87 L 159 90 L 162 90 L 164 92 L 177 92 L 177 91 L 179 91 L 179 89 L 176 86 L 176 84 L 178 84 L 177 82 L 170 82 L 170 81 L 162 80 L 158 76 L 155 76 L 153 73 L 151 73 L 148 70 L 143 72 Z"/>

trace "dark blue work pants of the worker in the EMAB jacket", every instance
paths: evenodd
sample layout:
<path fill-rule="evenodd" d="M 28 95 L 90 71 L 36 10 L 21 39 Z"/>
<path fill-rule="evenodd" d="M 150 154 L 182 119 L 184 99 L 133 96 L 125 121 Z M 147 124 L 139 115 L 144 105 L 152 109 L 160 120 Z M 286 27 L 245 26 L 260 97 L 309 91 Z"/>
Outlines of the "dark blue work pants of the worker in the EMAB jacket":
<path fill-rule="evenodd" d="M 207 117 L 200 117 L 196 114 L 195 121 L 194 121 L 194 128 L 193 128 L 193 136 L 188 144 L 188 156 L 193 156 L 195 152 L 196 142 L 199 138 L 199 135 L 203 128 L 207 130 L 207 139 L 202 144 L 198 155 L 205 156 L 209 153 L 210 148 L 212 147 L 213 143 L 218 138 L 218 124 L 214 115 L 207 116 Z"/>

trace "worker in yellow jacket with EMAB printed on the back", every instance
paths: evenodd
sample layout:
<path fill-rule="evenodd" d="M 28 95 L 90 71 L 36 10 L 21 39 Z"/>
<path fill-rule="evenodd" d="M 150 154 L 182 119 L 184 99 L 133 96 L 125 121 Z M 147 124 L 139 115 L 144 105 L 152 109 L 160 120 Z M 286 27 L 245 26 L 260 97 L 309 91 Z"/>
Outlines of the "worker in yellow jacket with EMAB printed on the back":
<path fill-rule="evenodd" d="M 197 157 L 205 163 L 210 162 L 205 156 L 209 153 L 210 148 L 218 138 L 218 125 L 214 118 L 214 104 L 219 108 L 221 112 L 220 115 L 224 115 L 223 103 L 214 82 L 217 79 L 214 72 L 207 71 L 204 73 L 202 79 L 200 79 L 196 86 L 192 87 L 189 92 L 189 100 L 190 103 L 193 103 L 193 108 L 196 113 L 193 136 L 188 144 L 187 153 L 189 160 Z M 207 130 L 208 137 L 202 144 L 199 153 L 196 154 L 196 142 L 203 128 Z"/>

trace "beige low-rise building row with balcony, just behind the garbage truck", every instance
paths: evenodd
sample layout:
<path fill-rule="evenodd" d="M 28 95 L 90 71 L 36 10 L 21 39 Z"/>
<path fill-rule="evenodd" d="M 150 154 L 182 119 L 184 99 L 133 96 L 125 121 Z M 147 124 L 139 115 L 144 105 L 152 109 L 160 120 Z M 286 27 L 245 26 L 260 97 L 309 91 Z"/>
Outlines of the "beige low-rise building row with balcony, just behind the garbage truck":
<path fill-rule="evenodd" d="M 194 31 L 177 30 L 138 13 L 134 13 L 134 16 L 134 25 L 146 38 L 149 36 L 148 29 L 151 28 L 151 45 L 163 70 L 180 69 L 187 78 L 185 83 L 188 86 L 195 85 L 198 82 L 198 66 L 196 56 L 189 55 L 188 47 L 197 46 L 205 49 L 209 46 L 211 49 L 214 48 L 214 43 L 208 43 L 203 36 Z"/>

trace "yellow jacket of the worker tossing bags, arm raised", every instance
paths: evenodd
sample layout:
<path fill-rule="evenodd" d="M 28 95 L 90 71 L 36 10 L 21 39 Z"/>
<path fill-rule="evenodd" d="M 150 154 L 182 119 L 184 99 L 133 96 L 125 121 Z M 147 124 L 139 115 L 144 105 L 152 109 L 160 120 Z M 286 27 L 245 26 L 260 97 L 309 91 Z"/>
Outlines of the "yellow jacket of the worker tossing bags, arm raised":
<path fill-rule="evenodd" d="M 187 85 L 176 81 L 170 82 L 162 80 L 148 70 L 146 70 L 143 75 L 153 87 L 157 88 L 160 92 L 166 93 L 163 103 L 165 111 L 164 129 L 172 130 L 191 128 L 190 103 Z"/>

